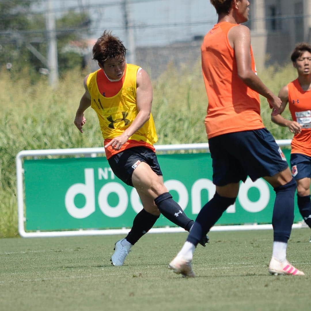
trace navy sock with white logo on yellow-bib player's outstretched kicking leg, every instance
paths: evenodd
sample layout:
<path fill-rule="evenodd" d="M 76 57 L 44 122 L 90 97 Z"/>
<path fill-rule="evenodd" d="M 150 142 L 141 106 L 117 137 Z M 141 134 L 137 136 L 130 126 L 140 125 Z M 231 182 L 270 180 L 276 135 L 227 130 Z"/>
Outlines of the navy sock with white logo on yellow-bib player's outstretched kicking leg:
<path fill-rule="evenodd" d="M 162 193 L 156 197 L 155 203 L 164 217 L 175 225 L 178 225 L 187 231 L 190 230 L 193 225 L 193 220 L 187 217 L 179 204 L 173 200 L 173 197 L 169 192 Z"/>

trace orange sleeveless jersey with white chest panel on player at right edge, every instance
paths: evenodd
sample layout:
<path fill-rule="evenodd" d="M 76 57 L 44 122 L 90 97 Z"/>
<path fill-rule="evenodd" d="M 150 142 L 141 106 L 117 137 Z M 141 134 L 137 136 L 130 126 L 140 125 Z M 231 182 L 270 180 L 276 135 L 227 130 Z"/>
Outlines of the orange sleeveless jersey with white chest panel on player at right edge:
<path fill-rule="evenodd" d="M 298 79 L 288 85 L 288 103 L 293 121 L 301 126 L 291 143 L 291 153 L 311 156 L 311 91 L 304 91 Z"/>

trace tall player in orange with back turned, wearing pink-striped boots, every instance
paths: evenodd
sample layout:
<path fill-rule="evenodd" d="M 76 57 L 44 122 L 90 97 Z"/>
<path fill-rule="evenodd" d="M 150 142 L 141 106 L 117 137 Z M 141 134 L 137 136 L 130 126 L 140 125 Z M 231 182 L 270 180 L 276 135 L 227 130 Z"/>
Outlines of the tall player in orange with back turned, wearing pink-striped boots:
<path fill-rule="evenodd" d="M 214 197 L 199 212 L 181 251 L 169 268 L 194 276 L 192 258 L 198 241 L 235 202 L 240 181 L 263 177 L 276 199 L 272 225 L 274 241 L 268 272 L 304 275 L 286 260 L 287 241 L 294 221 L 296 182 L 274 138 L 260 117 L 259 95 L 267 98 L 273 115 L 281 100 L 256 73 L 248 27 L 248 0 L 211 0 L 218 14 L 201 47 L 202 72 L 208 96 L 205 125 L 212 158 Z"/>

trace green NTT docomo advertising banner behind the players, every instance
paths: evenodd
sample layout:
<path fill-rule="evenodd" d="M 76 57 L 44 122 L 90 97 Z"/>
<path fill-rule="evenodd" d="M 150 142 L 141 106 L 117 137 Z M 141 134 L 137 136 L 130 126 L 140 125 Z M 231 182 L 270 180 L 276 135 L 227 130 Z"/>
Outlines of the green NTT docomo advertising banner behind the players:
<path fill-rule="evenodd" d="M 287 160 L 290 151 L 285 150 Z M 209 153 L 158 155 L 166 187 L 195 219 L 215 193 Z M 136 190 L 105 157 L 24 160 L 27 231 L 130 228 L 142 209 Z M 269 224 L 275 193 L 263 179 L 241 183 L 236 203 L 217 225 Z M 302 217 L 295 207 L 295 222 Z M 156 227 L 174 226 L 160 216 Z"/>

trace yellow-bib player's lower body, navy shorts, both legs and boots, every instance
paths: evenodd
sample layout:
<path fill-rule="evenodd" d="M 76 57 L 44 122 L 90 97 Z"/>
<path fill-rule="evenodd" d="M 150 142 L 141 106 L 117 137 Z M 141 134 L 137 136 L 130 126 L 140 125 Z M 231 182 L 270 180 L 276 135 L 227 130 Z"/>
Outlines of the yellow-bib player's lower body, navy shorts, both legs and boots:
<path fill-rule="evenodd" d="M 181 207 L 168 193 L 153 151 L 148 148 L 133 147 L 116 154 L 108 162 L 114 174 L 124 183 L 132 187 L 134 186 L 133 182 L 135 183 L 134 187 L 137 189 L 144 206 L 144 209 L 135 216 L 129 235 L 116 242 L 115 252 L 110 259 L 114 266 L 123 265 L 132 245 L 143 235 L 143 231 L 148 231 L 154 225 L 159 218 L 159 206 L 164 216 L 169 220 L 185 230 L 190 230 L 193 220 L 185 215 Z M 141 168 L 143 169 L 141 170 Z M 148 177 L 146 178 L 146 176 Z M 161 198 L 161 194 L 166 197 L 162 198 L 159 206 L 156 206 L 154 199 Z M 208 237 L 202 238 L 200 243 L 205 246 L 205 243 L 208 243 Z"/>

